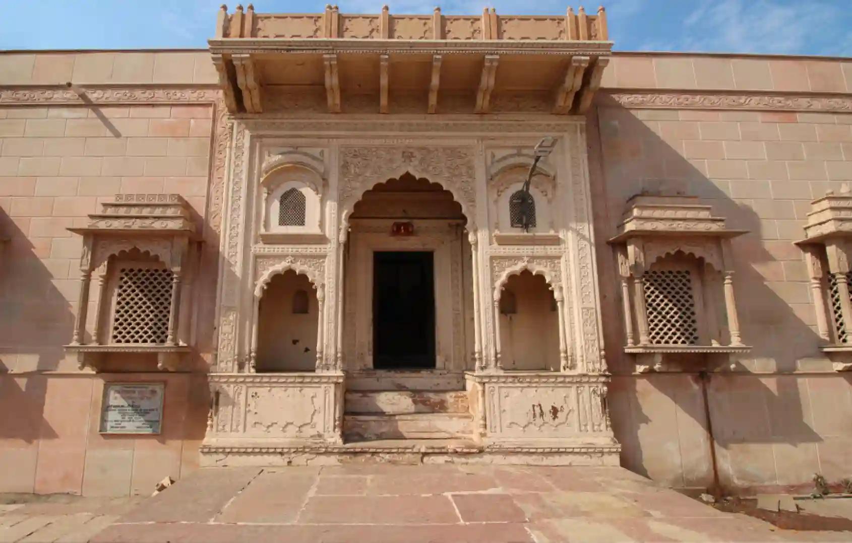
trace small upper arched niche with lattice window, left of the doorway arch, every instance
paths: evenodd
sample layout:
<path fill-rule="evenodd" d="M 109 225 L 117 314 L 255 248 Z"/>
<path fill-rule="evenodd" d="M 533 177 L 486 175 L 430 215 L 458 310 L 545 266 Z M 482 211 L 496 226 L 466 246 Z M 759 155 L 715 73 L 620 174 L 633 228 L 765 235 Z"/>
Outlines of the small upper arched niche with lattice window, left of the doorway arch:
<path fill-rule="evenodd" d="M 323 179 L 318 171 L 302 163 L 283 163 L 269 169 L 261 184 L 262 234 L 322 231 Z"/>

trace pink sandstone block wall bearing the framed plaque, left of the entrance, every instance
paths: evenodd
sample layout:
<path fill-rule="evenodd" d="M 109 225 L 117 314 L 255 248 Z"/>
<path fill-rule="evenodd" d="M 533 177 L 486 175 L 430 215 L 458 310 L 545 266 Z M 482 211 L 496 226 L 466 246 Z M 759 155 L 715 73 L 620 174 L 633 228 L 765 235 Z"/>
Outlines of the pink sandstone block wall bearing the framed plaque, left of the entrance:
<path fill-rule="evenodd" d="M 216 77 L 205 52 L 0 54 L 2 86 L 69 80 L 193 88 Z M 0 230 L 9 237 L 0 254 L 0 491 L 147 494 L 163 477 L 198 465 L 209 394 L 203 373 L 79 373 L 63 352 L 77 312 L 82 246 L 66 228 L 83 226 L 86 214 L 118 192 L 175 192 L 204 217 L 212 112 L 210 104 L 145 100 L 96 107 L 0 102 Z M 213 268 L 214 282 L 215 275 Z M 202 300 L 210 307 L 213 283 L 205 285 Z M 209 356 L 211 334 L 207 323 L 202 355 Z M 161 435 L 98 432 L 109 380 L 166 382 Z"/>

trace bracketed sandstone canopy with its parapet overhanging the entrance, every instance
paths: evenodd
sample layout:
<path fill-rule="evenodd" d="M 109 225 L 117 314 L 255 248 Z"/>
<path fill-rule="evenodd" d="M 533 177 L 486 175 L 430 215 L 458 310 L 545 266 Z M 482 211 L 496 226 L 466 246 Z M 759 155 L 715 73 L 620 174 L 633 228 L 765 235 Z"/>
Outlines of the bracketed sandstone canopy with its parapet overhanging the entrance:
<path fill-rule="evenodd" d="M 596 14 L 258 14 L 222 6 L 210 53 L 232 113 L 582 114 L 613 43 Z"/>

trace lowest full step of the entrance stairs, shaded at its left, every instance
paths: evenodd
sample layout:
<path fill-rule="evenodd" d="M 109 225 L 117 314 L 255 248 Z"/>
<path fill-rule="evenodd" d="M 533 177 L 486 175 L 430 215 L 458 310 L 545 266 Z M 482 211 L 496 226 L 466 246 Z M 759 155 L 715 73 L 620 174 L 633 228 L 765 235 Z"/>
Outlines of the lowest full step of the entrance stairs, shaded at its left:
<path fill-rule="evenodd" d="M 469 414 L 347 414 L 343 437 L 347 442 L 378 439 L 459 439 L 470 437 Z"/>

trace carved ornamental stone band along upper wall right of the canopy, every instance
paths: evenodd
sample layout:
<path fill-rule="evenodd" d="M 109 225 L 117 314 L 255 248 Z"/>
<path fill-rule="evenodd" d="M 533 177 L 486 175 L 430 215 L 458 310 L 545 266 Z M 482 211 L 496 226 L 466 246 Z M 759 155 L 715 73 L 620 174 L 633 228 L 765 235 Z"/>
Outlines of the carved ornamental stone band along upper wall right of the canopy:
<path fill-rule="evenodd" d="M 609 92 L 601 102 L 612 99 L 627 108 L 758 109 L 788 111 L 852 111 L 852 98 L 836 95 L 793 96 L 789 94 L 705 94 L 694 92 Z"/>

